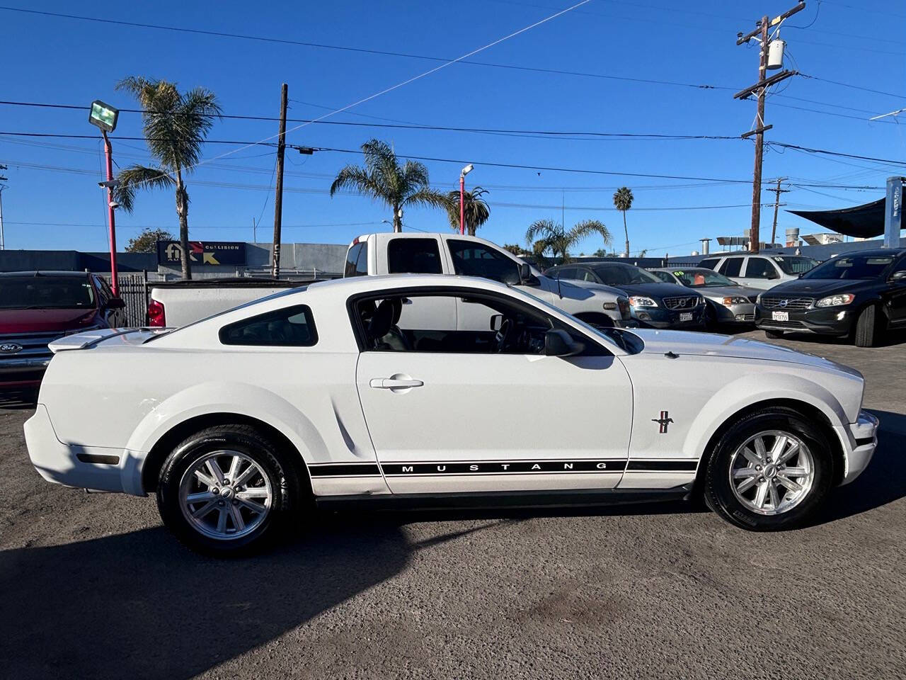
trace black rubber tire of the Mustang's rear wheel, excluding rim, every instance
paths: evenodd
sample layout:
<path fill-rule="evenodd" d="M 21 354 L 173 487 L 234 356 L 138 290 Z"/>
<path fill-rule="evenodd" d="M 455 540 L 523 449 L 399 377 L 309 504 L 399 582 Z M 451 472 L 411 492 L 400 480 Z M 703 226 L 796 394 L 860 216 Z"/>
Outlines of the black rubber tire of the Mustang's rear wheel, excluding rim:
<path fill-rule="evenodd" d="M 249 510 L 246 509 L 245 519 L 249 520 L 246 527 L 248 532 L 238 538 L 212 538 L 206 535 L 202 529 L 198 529 L 188 519 L 182 509 L 180 484 L 184 481 L 184 477 L 189 486 L 191 484 L 200 485 L 201 482 L 195 481 L 194 474 L 188 475 L 188 471 L 198 461 L 210 458 L 209 454 L 218 451 L 236 452 L 248 461 L 255 462 L 262 474 L 256 475 L 257 483 L 250 482 L 248 488 L 254 484 L 258 491 L 262 491 L 261 487 L 269 484 L 269 491 L 267 491 L 270 494 L 269 507 L 266 512 L 259 513 L 262 517 L 254 529 L 252 529 L 252 524 L 258 515 L 250 515 Z M 222 461 L 223 459 L 217 460 Z M 232 557 L 260 551 L 285 535 L 286 529 L 290 526 L 291 520 L 294 519 L 294 514 L 297 513 L 305 496 L 310 496 L 308 489 L 303 489 L 303 484 L 295 470 L 287 452 L 281 451 L 279 446 L 268 440 L 254 427 L 218 425 L 207 428 L 180 442 L 164 461 L 160 470 L 157 492 L 160 518 L 182 543 L 203 554 Z M 210 475 L 209 471 L 204 473 Z M 237 475 L 237 477 L 241 476 L 241 474 Z M 228 477 L 226 479 L 228 481 Z M 236 490 L 243 490 L 243 493 L 247 491 L 246 487 L 242 486 L 236 486 Z M 236 491 L 236 498 L 233 496 L 232 487 L 229 492 L 230 496 L 225 497 L 225 500 L 220 500 L 219 496 L 212 497 L 212 501 L 216 501 L 217 505 L 224 509 L 212 508 L 208 515 L 214 514 L 214 510 L 217 510 L 218 518 L 225 512 L 229 515 L 232 514 L 234 510 L 229 506 L 231 504 L 239 505 L 242 501 L 238 500 L 238 491 Z M 266 503 L 261 504 L 267 505 Z M 193 506 L 193 510 L 200 510 L 200 508 Z M 237 508 L 236 512 L 240 513 L 240 520 L 242 520 L 244 517 L 242 508 Z M 237 520 L 233 520 L 232 516 L 227 518 L 227 522 L 232 524 L 234 532 L 238 530 L 238 524 L 241 523 L 241 521 L 237 523 Z M 215 528 L 209 529 L 216 530 Z M 225 531 L 228 529 L 225 528 Z"/>

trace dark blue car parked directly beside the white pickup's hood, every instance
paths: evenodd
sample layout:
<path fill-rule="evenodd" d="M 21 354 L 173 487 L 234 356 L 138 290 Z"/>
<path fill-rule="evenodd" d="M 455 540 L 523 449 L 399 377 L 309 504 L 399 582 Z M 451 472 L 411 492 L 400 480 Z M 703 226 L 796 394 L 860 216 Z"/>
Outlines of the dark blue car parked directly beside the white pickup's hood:
<path fill-rule="evenodd" d="M 664 283 L 641 267 L 622 262 L 592 262 L 551 267 L 545 274 L 620 288 L 629 296 L 630 314 L 640 325 L 701 328 L 707 320 L 704 297 L 687 287 Z"/>

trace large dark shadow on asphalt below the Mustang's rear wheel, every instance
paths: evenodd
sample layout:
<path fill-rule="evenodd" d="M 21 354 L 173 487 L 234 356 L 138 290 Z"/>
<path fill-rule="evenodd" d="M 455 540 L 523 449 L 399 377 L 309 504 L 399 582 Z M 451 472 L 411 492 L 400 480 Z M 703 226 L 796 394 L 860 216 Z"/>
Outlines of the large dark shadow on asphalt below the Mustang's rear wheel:
<path fill-rule="evenodd" d="M 398 523 L 360 517 L 248 559 L 198 556 L 163 528 L 5 550 L 4 676 L 193 677 L 398 574 L 413 549 Z"/>

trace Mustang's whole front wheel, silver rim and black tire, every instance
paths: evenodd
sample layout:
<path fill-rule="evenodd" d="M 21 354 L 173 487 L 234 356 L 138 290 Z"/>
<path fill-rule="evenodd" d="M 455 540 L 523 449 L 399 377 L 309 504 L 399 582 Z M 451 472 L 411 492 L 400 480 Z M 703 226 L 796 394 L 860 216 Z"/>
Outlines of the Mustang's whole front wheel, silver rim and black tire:
<path fill-rule="evenodd" d="M 718 442 L 705 473 L 711 510 L 754 531 L 787 529 L 821 504 L 834 476 L 823 432 L 787 408 L 743 417 Z"/>

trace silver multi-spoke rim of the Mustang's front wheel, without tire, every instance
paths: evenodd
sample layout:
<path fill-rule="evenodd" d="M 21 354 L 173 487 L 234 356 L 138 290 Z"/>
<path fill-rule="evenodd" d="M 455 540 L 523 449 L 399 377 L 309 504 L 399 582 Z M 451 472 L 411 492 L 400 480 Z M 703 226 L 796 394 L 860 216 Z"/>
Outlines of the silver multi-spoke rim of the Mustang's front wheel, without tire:
<path fill-rule="evenodd" d="M 766 430 L 749 437 L 730 459 L 730 487 L 747 510 L 780 515 L 808 495 L 814 458 L 791 432 Z"/>

